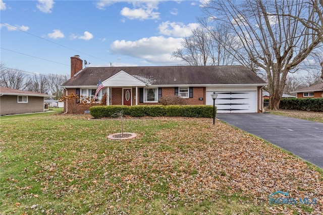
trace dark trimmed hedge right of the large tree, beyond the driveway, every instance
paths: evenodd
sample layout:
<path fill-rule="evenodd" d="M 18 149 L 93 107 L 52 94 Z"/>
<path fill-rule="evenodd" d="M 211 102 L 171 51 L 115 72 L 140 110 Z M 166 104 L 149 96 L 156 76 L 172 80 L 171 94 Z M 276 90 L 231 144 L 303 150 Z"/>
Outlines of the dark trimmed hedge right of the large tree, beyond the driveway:
<path fill-rule="evenodd" d="M 301 111 L 323 111 L 323 98 L 283 98 L 280 109 Z"/>

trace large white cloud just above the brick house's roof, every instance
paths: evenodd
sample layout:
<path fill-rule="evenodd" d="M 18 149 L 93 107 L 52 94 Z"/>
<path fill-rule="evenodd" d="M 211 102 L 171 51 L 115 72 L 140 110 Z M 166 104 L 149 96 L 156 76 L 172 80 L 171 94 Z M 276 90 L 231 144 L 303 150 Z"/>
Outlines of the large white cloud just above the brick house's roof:
<path fill-rule="evenodd" d="M 111 45 L 115 54 L 142 58 L 146 62 L 159 65 L 175 65 L 180 61 L 172 59 L 171 55 L 181 47 L 182 38 L 165 38 L 163 36 L 142 38 L 136 41 L 116 40 Z"/>

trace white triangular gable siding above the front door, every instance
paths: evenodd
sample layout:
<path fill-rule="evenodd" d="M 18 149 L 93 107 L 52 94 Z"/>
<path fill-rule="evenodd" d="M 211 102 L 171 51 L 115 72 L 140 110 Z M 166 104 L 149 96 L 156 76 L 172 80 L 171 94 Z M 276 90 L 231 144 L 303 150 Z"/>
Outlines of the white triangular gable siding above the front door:
<path fill-rule="evenodd" d="M 105 87 L 131 87 L 131 86 L 146 86 L 145 83 L 129 75 L 121 70 L 117 74 L 102 82 Z"/>

